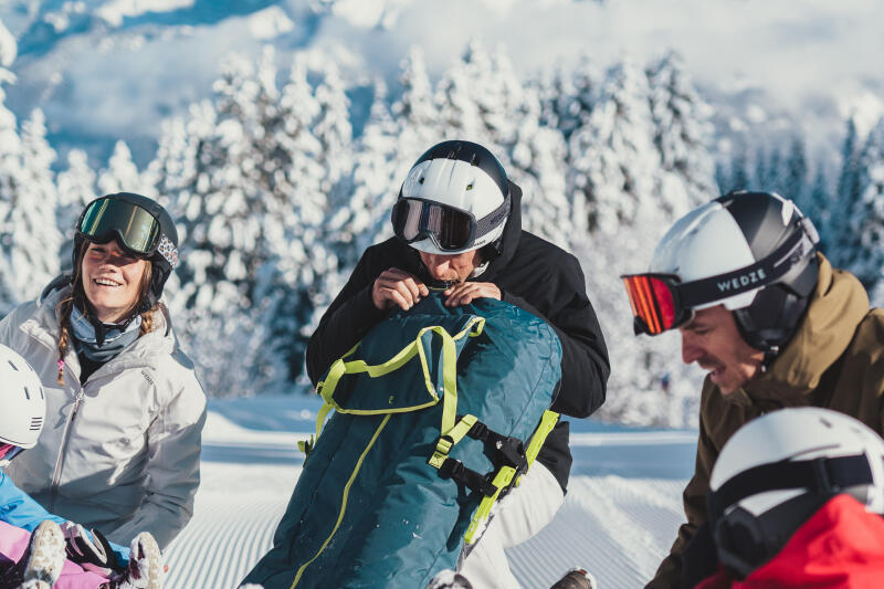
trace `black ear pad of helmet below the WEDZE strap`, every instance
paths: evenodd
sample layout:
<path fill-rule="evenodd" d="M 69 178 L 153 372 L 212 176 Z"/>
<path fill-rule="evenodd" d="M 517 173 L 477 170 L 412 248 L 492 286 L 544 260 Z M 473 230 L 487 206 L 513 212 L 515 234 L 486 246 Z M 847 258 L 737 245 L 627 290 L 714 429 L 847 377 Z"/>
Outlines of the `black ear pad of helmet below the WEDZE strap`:
<path fill-rule="evenodd" d="M 734 319 L 743 339 L 766 353 L 782 349 L 804 317 L 819 270 L 819 260 L 812 256 L 803 267 L 789 273 L 796 274 L 793 278 L 787 274 L 785 282 L 758 291 L 749 306 L 735 309 Z"/>

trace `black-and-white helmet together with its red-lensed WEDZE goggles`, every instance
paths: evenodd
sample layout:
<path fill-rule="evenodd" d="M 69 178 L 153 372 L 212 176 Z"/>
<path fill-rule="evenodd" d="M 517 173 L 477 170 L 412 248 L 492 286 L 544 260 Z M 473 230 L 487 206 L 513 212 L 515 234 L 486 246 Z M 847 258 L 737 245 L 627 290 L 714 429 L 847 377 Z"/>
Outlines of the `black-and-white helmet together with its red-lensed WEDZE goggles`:
<path fill-rule="evenodd" d="M 648 273 L 623 276 L 635 333 L 656 335 L 724 305 L 749 345 L 776 354 L 817 285 L 818 242 L 810 219 L 777 193 L 730 192 L 703 204 L 666 232 Z"/>

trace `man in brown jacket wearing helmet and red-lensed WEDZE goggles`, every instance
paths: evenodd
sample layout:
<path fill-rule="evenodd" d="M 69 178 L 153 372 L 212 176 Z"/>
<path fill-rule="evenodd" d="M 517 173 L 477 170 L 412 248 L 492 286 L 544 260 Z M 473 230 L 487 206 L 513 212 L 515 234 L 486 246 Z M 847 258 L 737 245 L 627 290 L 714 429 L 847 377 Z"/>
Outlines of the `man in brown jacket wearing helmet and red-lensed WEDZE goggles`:
<path fill-rule="evenodd" d="M 713 465 L 740 425 L 814 406 L 882 431 L 884 313 L 818 242 L 792 201 L 733 192 L 676 221 L 650 270 L 623 276 L 636 334 L 678 329 L 682 360 L 708 372 L 687 523 L 649 588 L 680 587 L 685 546 L 708 519 Z"/>

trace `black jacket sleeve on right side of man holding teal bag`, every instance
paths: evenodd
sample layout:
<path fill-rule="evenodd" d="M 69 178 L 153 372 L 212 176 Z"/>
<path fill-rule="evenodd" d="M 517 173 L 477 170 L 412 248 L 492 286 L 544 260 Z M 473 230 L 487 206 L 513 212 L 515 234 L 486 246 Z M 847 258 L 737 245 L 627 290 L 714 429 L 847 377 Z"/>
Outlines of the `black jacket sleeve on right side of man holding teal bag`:
<path fill-rule="evenodd" d="M 540 281 L 543 291 L 534 288 L 535 304 L 506 291 L 503 298 L 534 313 L 556 330 L 561 341 L 561 383 L 551 409 L 586 418 L 604 402 L 611 371 L 608 348 L 577 259 L 567 254 L 547 269 Z"/>

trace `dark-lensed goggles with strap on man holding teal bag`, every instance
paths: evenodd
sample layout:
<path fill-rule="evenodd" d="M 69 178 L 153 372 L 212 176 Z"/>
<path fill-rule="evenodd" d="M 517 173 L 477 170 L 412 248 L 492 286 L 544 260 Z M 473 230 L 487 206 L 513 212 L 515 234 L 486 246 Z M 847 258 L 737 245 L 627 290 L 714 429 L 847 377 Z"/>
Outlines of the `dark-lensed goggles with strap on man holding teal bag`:
<path fill-rule="evenodd" d="M 477 238 L 488 233 L 506 219 L 509 194 L 503 204 L 482 219 L 464 210 L 422 199 L 399 199 L 393 204 L 390 221 L 393 233 L 406 243 L 431 239 L 445 252 L 472 246 Z"/>

